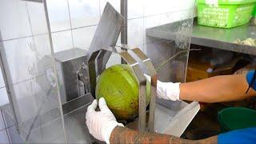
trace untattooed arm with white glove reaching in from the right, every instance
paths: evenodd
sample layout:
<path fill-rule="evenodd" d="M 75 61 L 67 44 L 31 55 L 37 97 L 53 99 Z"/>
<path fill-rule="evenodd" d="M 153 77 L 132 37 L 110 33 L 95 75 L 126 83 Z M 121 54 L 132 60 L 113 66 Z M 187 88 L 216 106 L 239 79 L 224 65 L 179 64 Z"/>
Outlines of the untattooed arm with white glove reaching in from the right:
<path fill-rule="evenodd" d="M 253 72 L 247 74 L 249 80 L 252 79 Z M 150 81 L 150 77 L 145 76 Z M 254 82 L 254 85 L 256 86 L 256 82 Z M 215 76 L 186 83 L 161 82 L 158 80 L 157 94 L 158 98 L 172 101 L 230 102 L 255 96 L 255 87 L 254 89 L 250 88 L 246 94 L 248 86 L 246 75 L 243 74 Z"/>

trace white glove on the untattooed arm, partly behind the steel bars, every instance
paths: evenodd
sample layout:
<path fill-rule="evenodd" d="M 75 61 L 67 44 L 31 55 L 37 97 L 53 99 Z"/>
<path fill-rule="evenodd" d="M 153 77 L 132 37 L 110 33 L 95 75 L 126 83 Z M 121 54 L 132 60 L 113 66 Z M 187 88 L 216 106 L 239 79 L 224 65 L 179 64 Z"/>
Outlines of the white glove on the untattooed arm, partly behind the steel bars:
<path fill-rule="evenodd" d="M 148 82 L 151 82 L 151 78 L 149 75 L 144 74 L 146 77 L 146 80 Z M 173 82 L 157 82 L 157 96 L 158 98 L 177 101 L 179 100 L 179 84 L 173 83 Z"/>

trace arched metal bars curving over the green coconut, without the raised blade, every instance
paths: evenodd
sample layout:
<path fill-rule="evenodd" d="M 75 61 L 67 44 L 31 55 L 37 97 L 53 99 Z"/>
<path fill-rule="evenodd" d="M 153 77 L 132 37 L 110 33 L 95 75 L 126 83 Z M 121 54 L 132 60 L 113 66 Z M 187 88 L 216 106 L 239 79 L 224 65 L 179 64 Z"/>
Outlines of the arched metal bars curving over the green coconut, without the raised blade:
<path fill-rule="evenodd" d="M 144 76 L 144 72 L 139 66 L 139 62 L 135 60 L 133 56 L 131 56 L 128 52 L 133 52 L 146 66 L 146 70 L 151 77 L 151 89 L 150 89 L 150 117 L 148 127 L 150 132 L 154 132 L 154 110 L 155 110 L 155 99 L 156 99 L 156 81 L 157 81 L 157 72 L 154 69 L 153 63 L 150 58 L 146 57 L 146 54 L 143 54 L 142 50 L 139 48 L 130 48 L 129 46 L 123 45 L 122 50 L 117 49 L 117 47 L 108 47 L 102 48 L 100 50 L 95 51 L 91 54 L 89 58 L 89 74 L 90 74 L 90 92 L 93 96 L 95 96 L 95 88 L 96 88 L 96 78 L 102 72 L 102 69 L 96 69 L 95 65 L 100 65 L 102 67 L 106 67 L 106 62 L 109 57 L 105 59 L 105 61 L 98 61 L 98 59 L 102 59 L 106 54 L 119 54 L 121 58 L 132 68 L 134 74 L 138 80 L 139 84 L 139 117 L 138 117 L 138 130 L 139 131 L 147 131 L 146 130 L 146 78 Z"/>

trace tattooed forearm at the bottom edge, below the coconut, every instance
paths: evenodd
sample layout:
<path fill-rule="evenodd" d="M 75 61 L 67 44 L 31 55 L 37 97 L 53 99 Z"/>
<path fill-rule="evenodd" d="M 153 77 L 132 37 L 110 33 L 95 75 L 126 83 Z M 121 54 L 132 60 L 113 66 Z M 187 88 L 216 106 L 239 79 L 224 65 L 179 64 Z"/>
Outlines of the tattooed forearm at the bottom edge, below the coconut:
<path fill-rule="evenodd" d="M 157 133 L 139 133 L 125 127 L 116 126 L 110 135 L 110 143 L 218 143 L 217 136 L 192 141 L 177 138 L 166 134 Z"/>

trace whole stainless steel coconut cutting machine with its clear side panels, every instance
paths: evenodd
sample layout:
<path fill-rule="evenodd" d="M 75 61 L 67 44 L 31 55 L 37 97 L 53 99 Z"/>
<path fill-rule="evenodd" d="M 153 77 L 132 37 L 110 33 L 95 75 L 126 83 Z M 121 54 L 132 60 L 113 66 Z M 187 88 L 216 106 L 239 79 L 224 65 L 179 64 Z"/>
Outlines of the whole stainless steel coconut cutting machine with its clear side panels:
<path fill-rule="evenodd" d="M 190 104 L 182 101 L 162 102 L 156 98 L 156 85 L 153 83 L 156 83 L 157 75 L 165 78 L 166 72 L 174 70 L 171 66 L 177 69 L 182 67 L 179 75 L 186 75 L 188 51 L 181 58 L 175 59 L 174 63 L 169 63 L 170 65 L 167 66 L 164 73 L 157 74 L 154 66 L 157 66 L 156 62 L 160 61 L 161 58 L 159 57 L 169 57 L 170 53 L 173 55 L 178 53 L 178 50 L 189 49 L 190 36 L 187 36 L 183 31 L 191 30 L 190 21 L 181 22 L 183 26 L 181 29 L 176 26 L 174 30 L 182 31 L 182 34 L 175 31 L 174 40 L 172 39 L 170 42 L 168 40 L 169 43 L 167 44 L 160 43 L 166 41 L 163 39 L 148 38 L 149 42 L 146 43 L 148 51 L 146 53 L 146 50 L 142 50 L 140 46 L 118 46 L 118 36 L 121 30 L 125 30 L 127 19 L 107 2 L 89 50 L 72 48 L 54 53 L 47 1 L 37 2 L 37 6 L 42 6 L 42 10 L 45 12 L 47 24 L 47 30 L 44 33 L 47 46 L 41 49 L 48 51 L 41 56 L 36 53 L 41 49 L 31 46 L 29 52 L 32 56 L 29 55 L 29 52 L 24 54 L 19 54 L 19 51 L 16 52 L 18 56 L 25 55 L 24 57 L 20 56 L 24 59 L 32 57 L 23 63 L 24 67 L 27 68 L 24 76 L 22 75 L 24 67 L 20 69 L 21 74 L 18 74 L 18 70 L 12 70 L 17 66 L 18 60 L 14 64 L 10 61 L 11 54 L 14 54 L 13 51 L 9 52 L 10 49 L 6 48 L 8 46 L 6 43 L 10 40 L 5 43 L 0 38 L 2 46 L 0 49 L 1 67 L 4 68 L 2 71 L 6 76 L 6 86 L 10 92 L 8 93 L 10 104 L 2 106 L 1 109 L 6 119 L 6 133 L 9 134 L 10 142 L 97 142 L 91 137 L 86 127 L 86 108 L 94 99 L 97 77 L 106 69 L 106 63 L 109 62 L 112 54 L 118 55 L 123 62 L 130 65 L 138 79 L 140 90 L 139 115 L 138 118 L 134 119 L 134 123 L 138 122 L 138 130 L 181 136 L 186 126 L 197 114 L 198 102 L 191 102 Z M 167 27 L 170 28 L 170 26 Z M 154 30 L 154 32 L 157 31 Z M 175 38 L 178 38 L 177 42 Z M 185 39 L 186 45 L 182 43 L 181 38 Z M 34 39 L 32 35 L 31 41 Z M 170 49 L 170 45 L 174 44 L 175 47 L 177 43 L 177 50 Z M 169 47 L 167 49 L 155 48 L 163 46 Z M 23 47 L 26 48 L 26 46 Z M 150 53 L 150 50 L 154 52 Z M 159 50 L 162 54 L 160 56 Z M 184 61 L 184 63 L 179 61 Z M 172 77 L 177 77 L 176 73 L 171 73 Z M 152 81 L 149 109 L 146 109 L 146 78 L 143 74 L 149 74 Z M 24 78 L 18 79 L 20 81 L 16 82 L 16 75 L 19 76 L 18 78 L 22 78 L 22 76 Z M 181 78 L 177 78 L 177 81 L 180 80 Z M 149 112 L 148 122 L 146 120 L 147 112 Z"/>

